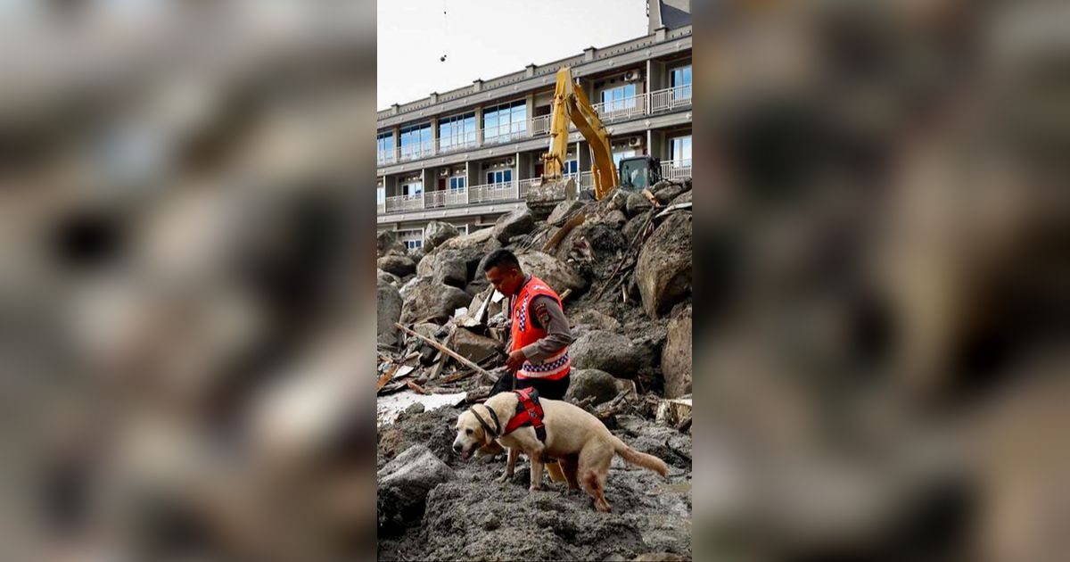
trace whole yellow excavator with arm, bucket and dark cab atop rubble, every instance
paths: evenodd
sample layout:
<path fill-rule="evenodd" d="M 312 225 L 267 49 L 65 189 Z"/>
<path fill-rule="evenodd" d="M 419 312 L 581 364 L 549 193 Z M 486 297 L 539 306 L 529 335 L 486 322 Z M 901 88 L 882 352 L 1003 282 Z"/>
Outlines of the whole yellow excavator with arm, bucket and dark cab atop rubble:
<path fill-rule="evenodd" d="M 575 123 L 591 146 L 592 177 L 595 199 L 606 197 L 616 187 L 638 192 L 661 180 L 658 158 L 633 156 L 624 158 L 620 168 L 613 166 L 613 152 L 609 133 L 582 88 L 577 88 L 572 71 L 563 66 L 557 71 L 557 87 L 550 112 L 550 151 L 542 154 L 542 177 L 528 189 L 528 207 L 536 214 L 548 214 L 565 199 L 576 199 L 576 180 L 564 178 L 565 156 L 568 151 L 568 126 Z"/>

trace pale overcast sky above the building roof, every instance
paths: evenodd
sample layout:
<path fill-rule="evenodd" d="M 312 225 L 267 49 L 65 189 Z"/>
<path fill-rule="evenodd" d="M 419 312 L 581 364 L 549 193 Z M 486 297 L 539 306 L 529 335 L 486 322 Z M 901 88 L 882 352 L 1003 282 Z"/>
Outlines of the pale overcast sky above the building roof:
<path fill-rule="evenodd" d="M 379 109 L 646 34 L 646 0 L 379 0 L 377 17 Z"/>

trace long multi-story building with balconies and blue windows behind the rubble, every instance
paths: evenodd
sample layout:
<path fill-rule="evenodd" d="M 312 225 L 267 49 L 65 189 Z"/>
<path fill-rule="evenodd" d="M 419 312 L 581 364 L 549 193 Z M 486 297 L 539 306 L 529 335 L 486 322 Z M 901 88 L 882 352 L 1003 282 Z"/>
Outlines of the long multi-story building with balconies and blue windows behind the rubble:
<path fill-rule="evenodd" d="M 647 35 L 403 105 L 378 115 L 380 230 L 410 247 L 430 221 L 485 228 L 523 203 L 542 173 L 557 70 L 572 75 L 606 124 L 614 163 L 649 154 L 668 178 L 691 174 L 689 0 L 649 0 Z M 591 150 L 575 127 L 566 173 L 592 184 Z"/>

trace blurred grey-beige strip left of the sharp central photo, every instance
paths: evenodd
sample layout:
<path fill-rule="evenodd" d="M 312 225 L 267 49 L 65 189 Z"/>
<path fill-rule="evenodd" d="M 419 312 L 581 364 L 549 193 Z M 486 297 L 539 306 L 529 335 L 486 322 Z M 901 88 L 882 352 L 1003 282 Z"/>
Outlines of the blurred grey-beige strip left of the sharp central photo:
<path fill-rule="evenodd" d="M 373 9 L 0 1 L 0 559 L 373 552 Z"/>

